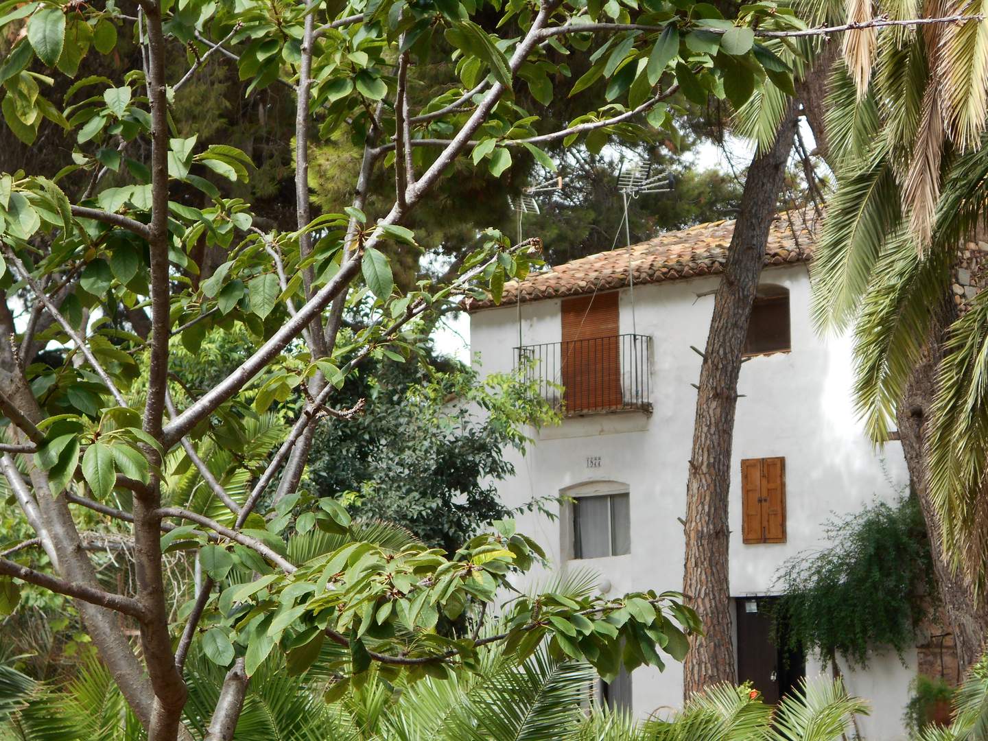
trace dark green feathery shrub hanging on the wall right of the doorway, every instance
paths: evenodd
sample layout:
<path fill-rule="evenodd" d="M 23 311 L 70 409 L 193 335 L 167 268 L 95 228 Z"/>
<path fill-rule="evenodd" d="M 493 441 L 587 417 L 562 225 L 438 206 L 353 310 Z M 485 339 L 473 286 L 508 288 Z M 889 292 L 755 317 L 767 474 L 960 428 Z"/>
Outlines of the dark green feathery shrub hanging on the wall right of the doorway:
<path fill-rule="evenodd" d="M 879 647 L 902 656 L 935 594 L 919 504 L 876 503 L 830 522 L 826 534 L 830 544 L 782 567 L 774 616 L 782 634 L 793 648 L 861 665 Z"/>

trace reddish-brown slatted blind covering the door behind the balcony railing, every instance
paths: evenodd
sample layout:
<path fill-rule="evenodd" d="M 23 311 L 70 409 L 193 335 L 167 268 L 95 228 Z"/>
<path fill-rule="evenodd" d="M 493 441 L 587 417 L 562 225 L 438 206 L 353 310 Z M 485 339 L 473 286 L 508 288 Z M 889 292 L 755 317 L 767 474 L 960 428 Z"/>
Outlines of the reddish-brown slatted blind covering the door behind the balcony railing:
<path fill-rule="evenodd" d="M 560 369 L 568 412 L 621 405 L 617 291 L 562 301 Z"/>

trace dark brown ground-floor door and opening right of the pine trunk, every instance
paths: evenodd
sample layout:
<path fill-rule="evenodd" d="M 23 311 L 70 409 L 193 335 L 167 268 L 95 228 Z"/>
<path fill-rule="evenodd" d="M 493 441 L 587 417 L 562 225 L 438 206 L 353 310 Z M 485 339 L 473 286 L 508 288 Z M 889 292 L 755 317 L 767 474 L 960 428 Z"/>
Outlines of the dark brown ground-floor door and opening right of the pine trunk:
<path fill-rule="evenodd" d="M 798 686 L 806 674 L 806 660 L 800 651 L 785 644 L 784 625 L 777 631 L 771 615 L 772 597 L 749 597 L 736 600 L 738 628 L 738 684 L 751 682 L 769 704 Z"/>

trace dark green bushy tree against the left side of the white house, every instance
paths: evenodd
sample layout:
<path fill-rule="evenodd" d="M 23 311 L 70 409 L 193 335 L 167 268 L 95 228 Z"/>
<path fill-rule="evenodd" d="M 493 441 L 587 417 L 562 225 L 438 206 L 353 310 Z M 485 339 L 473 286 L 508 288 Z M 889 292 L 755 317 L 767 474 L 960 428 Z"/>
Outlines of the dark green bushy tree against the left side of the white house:
<path fill-rule="evenodd" d="M 383 362 L 348 382 L 341 400 L 369 399 L 359 419 L 327 425 L 308 476 L 321 497 L 354 492 L 352 509 L 408 528 L 452 552 L 479 527 L 508 516 L 496 484 L 514 473 L 526 425 L 555 417 L 521 379 L 453 366 Z"/>

